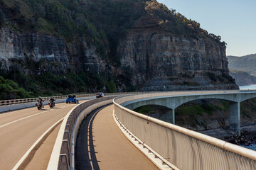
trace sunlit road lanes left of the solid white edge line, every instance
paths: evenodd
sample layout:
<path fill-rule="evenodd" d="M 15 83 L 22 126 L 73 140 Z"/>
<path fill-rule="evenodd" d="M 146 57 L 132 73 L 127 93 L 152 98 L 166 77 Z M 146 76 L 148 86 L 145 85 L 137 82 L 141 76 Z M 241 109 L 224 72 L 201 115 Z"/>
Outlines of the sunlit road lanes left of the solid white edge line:
<path fill-rule="evenodd" d="M 58 103 L 0 114 L 0 169 L 13 169 L 31 145 L 77 104 Z M 51 152 L 51 151 L 50 151 Z"/>

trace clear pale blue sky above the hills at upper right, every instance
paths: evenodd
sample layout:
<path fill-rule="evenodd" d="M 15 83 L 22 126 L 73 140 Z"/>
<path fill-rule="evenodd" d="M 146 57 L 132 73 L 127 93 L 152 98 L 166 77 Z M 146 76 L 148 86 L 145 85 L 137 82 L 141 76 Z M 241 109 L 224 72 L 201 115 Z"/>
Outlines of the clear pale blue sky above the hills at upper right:
<path fill-rule="evenodd" d="M 157 0 L 220 35 L 227 55 L 256 53 L 256 0 Z"/>

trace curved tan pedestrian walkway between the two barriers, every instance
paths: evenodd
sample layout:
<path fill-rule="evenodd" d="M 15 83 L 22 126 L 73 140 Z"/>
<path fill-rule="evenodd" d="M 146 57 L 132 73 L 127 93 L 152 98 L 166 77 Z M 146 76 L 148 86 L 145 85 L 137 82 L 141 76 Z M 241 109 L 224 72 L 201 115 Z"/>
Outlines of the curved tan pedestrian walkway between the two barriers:
<path fill-rule="evenodd" d="M 124 137 L 112 117 L 113 108 L 111 105 L 91 113 L 82 123 L 75 169 L 158 169 Z"/>

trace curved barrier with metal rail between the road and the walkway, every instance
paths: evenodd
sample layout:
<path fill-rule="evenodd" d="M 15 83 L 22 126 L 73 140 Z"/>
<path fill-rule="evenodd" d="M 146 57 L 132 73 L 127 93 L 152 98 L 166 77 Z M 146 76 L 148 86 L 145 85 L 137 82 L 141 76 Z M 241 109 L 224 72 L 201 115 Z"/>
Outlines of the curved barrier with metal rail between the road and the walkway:
<path fill-rule="evenodd" d="M 53 152 L 50 156 L 48 170 L 53 169 L 75 169 L 75 142 L 78 135 L 80 123 L 87 114 L 112 103 L 112 99 L 116 96 L 97 98 L 95 100 L 86 101 L 73 108 L 68 115 L 65 116 L 63 123 L 60 126 L 58 137 L 53 147 Z"/>

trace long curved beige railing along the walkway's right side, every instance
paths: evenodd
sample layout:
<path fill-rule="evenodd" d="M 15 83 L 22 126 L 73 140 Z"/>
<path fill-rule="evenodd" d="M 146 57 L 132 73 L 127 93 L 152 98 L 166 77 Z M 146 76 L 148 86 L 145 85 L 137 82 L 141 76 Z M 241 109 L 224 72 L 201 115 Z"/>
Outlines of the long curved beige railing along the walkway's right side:
<path fill-rule="evenodd" d="M 256 152 L 131 111 L 122 103 L 161 94 L 114 98 L 114 115 L 144 147 L 178 169 L 256 169 Z M 155 156 L 157 157 L 157 155 Z"/>

